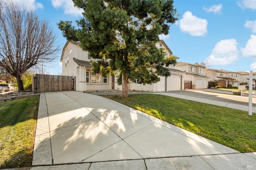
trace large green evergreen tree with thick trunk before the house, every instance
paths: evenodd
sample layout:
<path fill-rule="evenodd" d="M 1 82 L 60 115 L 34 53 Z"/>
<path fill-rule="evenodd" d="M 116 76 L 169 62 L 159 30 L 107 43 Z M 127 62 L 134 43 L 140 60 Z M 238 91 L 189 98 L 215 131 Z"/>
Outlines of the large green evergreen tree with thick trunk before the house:
<path fill-rule="evenodd" d="M 128 96 L 128 80 L 141 84 L 158 82 L 158 76 L 170 76 L 169 64 L 176 57 L 156 48 L 159 35 L 169 33 L 176 18 L 173 0 L 73 0 L 82 8 L 83 18 L 60 21 L 59 28 L 67 40 L 80 41 L 84 51 L 99 59 L 93 72 L 104 75 L 119 72 L 122 97 Z"/>

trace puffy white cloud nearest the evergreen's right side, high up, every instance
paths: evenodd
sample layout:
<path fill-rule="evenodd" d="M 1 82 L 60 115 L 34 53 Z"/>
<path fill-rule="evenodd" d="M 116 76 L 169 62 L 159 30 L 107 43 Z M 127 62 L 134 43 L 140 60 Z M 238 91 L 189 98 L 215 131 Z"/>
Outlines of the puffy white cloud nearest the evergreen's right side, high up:
<path fill-rule="evenodd" d="M 207 33 L 208 21 L 205 19 L 193 16 L 190 11 L 183 14 L 182 19 L 176 22 L 184 33 L 189 33 L 192 36 L 202 36 Z"/>

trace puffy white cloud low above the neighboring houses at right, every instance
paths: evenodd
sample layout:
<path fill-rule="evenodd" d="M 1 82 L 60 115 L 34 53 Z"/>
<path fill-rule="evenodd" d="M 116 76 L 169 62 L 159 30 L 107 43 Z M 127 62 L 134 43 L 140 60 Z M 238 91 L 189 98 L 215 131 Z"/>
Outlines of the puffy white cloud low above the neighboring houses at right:
<path fill-rule="evenodd" d="M 239 51 L 237 49 L 236 39 L 224 39 L 219 41 L 212 54 L 206 58 L 206 61 L 210 65 L 225 66 L 233 64 L 238 61 Z"/>

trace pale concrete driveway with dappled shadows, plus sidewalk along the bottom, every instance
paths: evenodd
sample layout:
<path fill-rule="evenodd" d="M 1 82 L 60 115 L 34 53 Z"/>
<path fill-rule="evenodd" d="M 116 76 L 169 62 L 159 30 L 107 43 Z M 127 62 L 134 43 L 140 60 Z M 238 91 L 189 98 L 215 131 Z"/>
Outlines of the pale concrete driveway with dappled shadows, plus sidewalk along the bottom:
<path fill-rule="evenodd" d="M 240 153 L 112 100 L 40 95 L 32 170 L 255 169 Z"/>

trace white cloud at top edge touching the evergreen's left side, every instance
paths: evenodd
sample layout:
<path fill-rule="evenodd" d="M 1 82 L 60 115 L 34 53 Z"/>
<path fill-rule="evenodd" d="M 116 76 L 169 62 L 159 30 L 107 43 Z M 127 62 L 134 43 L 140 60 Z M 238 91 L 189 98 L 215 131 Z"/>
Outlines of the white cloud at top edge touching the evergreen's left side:
<path fill-rule="evenodd" d="M 64 14 L 70 14 L 72 16 L 82 16 L 82 9 L 74 7 L 72 0 L 51 0 L 54 8 L 63 8 Z"/>

